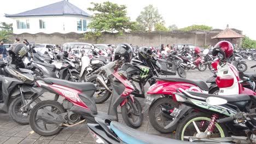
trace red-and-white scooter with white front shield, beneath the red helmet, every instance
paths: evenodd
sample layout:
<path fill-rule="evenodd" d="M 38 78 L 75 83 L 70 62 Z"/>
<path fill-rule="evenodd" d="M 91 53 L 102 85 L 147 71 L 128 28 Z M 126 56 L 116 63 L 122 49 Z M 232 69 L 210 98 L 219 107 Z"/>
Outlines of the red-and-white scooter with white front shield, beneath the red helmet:
<path fill-rule="evenodd" d="M 240 77 L 234 65 L 221 62 L 216 59 L 212 66 L 217 74 L 216 84 L 220 88 L 219 95 L 231 94 L 247 94 L 256 95 L 256 93 L 248 88 L 243 87 L 243 82 L 240 83 Z M 255 65 L 256 67 L 256 65 Z M 187 80 L 176 77 L 160 77 L 148 89 L 148 96 L 145 100 L 143 111 L 149 109 L 149 121 L 153 127 L 162 132 L 170 133 L 176 129 L 179 119 L 185 115 L 186 110 L 177 109 L 178 103 L 173 93 L 176 89 L 182 88 L 185 91 L 208 93 L 208 86 L 201 80 Z M 176 113 L 180 113 L 179 118 L 176 118 Z M 173 118 L 176 121 L 173 121 Z"/>

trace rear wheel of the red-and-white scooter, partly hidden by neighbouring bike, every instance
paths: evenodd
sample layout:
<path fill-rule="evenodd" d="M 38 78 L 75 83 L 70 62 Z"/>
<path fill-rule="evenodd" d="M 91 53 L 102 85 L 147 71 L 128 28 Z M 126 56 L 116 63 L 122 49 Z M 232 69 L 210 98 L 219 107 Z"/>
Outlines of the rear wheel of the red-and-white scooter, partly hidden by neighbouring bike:
<path fill-rule="evenodd" d="M 156 130 L 161 133 L 171 133 L 176 127 L 165 129 L 164 127 L 172 122 L 170 116 L 170 110 L 174 107 L 178 107 L 178 103 L 175 103 L 171 98 L 159 98 L 149 107 L 148 117 L 149 122 Z"/>

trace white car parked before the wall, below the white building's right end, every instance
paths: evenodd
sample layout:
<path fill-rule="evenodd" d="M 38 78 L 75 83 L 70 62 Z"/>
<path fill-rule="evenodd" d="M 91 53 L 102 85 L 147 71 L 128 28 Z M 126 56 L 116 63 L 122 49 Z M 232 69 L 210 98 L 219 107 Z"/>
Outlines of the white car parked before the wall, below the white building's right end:
<path fill-rule="evenodd" d="M 88 53 L 91 51 L 91 48 L 94 47 L 92 44 L 89 43 L 65 43 L 62 45 L 62 51 L 82 51 Z"/>

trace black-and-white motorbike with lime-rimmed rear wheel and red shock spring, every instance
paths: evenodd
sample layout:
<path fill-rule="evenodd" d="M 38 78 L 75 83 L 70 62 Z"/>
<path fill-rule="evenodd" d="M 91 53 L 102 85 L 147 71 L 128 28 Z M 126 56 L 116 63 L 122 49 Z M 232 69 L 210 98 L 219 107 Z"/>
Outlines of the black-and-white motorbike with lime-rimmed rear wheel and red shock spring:
<path fill-rule="evenodd" d="M 240 81 L 242 82 L 244 81 Z M 234 135 L 230 138 L 236 139 L 235 141 L 254 141 L 255 108 L 251 109 L 251 105 L 255 103 L 255 97 L 246 94 L 212 95 L 186 92 L 182 88 L 177 89 L 175 97 L 182 103 L 172 113 L 173 122 L 179 121 L 176 129 L 177 140 L 189 140 L 192 137 L 200 140 L 230 141 L 227 139 L 230 131 Z M 182 118 L 180 115 L 183 115 Z M 248 138 L 242 137 L 245 134 Z"/>

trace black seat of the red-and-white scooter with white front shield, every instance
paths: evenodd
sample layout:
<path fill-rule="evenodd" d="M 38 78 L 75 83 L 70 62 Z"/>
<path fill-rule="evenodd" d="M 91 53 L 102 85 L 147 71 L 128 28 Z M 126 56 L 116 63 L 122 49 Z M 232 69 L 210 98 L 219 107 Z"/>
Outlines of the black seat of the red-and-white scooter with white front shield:
<path fill-rule="evenodd" d="M 196 85 L 197 87 L 201 88 L 203 91 L 209 91 L 207 84 L 202 80 L 188 80 L 188 79 L 183 79 L 179 77 L 153 77 L 153 78 L 158 80 L 164 80 L 164 81 L 188 82 L 193 85 Z"/>

